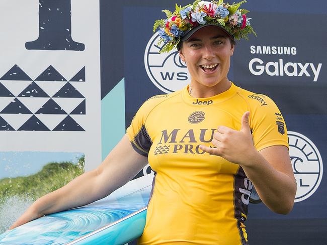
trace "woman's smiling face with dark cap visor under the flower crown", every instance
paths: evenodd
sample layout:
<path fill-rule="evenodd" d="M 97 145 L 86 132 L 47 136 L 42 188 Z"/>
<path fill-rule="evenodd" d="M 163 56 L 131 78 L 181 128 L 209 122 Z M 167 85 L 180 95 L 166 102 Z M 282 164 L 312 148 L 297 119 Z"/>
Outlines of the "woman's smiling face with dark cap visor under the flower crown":
<path fill-rule="evenodd" d="M 191 74 L 192 85 L 214 87 L 228 82 L 227 73 L 234 46 L 221 29 L 208 26 L 184 41 L 180 57 Z"/>

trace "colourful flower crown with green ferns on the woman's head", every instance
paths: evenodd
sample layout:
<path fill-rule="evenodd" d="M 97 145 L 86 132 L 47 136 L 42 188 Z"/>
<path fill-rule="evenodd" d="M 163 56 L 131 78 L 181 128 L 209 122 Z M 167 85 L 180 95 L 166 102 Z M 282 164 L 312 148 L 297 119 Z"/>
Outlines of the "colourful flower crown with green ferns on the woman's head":
<path fill-rule="evenodd" d="M 250 25 L 246 16 L 249 11 L 239 9 L 240 5 L 247 1 L 241 1 L 232 5 L 219 1 L 196 0 L 192 5 L 179 7 L 172 13 L 169 10 L 162 10 L 167 15 L 166 20 L 157 20 L 153 25 L 153 33 L 159 28 L 160 39 L 158 45 L 163 45 L 160 53 L 169 52 L 176 48 L 186 32 L 197 26 L 217 25 L 222 27 L 236 40 L 241 38 L 249 39 L 248 34 L 255 31 Z"/>

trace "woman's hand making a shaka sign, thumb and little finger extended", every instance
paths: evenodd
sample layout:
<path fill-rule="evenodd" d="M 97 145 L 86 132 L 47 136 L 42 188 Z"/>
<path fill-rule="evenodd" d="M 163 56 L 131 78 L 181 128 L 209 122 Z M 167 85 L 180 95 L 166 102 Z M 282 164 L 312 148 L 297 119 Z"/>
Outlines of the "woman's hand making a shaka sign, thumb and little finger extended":
<path fill-rule="evenodd" d="M 241 129 L 239 131 L 219 126 L 212 140 L 212 144 L 216 148 L 201 145 L 200 149 L 241 166 L 251 164 L 252 156 L 257 153 L 257 150 L 253 145 L 249 115 L 249 111 L 244 112 L 242 115 Z"/>

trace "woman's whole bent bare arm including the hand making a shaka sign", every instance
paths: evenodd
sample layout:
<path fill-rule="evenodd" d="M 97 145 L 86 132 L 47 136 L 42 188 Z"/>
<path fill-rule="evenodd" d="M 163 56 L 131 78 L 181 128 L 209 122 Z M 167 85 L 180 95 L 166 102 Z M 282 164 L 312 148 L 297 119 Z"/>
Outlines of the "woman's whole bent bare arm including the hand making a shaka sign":
<path fill-rule="evenodd" d="M 216 148 L 200 148 L 239 164 L 255 185 L 261 200 L 272 211 L 287 214 L 292 210 L 296 182 L 288 149 L 271 146 L 258 152 L 253 145 L 248 111 L 242 116 L 240 131 L 220 126 L 212 144 Z"/>

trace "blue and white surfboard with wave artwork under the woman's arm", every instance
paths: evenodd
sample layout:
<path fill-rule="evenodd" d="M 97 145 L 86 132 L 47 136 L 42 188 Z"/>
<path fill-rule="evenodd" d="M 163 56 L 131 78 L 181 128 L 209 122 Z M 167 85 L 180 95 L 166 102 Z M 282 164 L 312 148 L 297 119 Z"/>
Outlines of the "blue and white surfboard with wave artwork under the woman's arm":
<path fill-rule="evenodd" d="M 126 244 L 145 225 L 149 174 L 89 205 L 49 214 L 0 235 L 0 244 Z"/>

